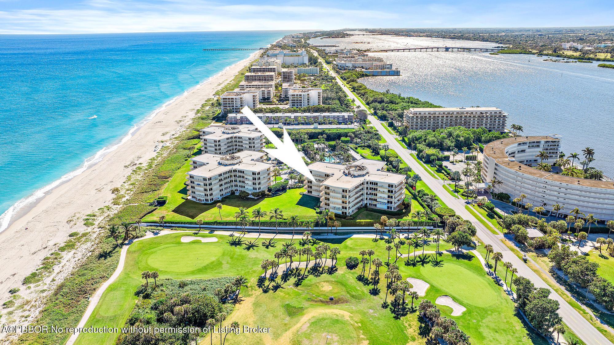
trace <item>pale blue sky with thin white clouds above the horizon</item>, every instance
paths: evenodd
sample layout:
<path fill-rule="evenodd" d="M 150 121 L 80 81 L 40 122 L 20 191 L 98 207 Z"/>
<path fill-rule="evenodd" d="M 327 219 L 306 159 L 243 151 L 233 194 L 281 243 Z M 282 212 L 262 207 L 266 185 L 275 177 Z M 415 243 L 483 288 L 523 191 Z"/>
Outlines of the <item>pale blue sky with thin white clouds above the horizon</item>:
<path fill-rule="evenodd" d="M 601 25 L 611 0 L 0 0 L 0 34 Z"/>

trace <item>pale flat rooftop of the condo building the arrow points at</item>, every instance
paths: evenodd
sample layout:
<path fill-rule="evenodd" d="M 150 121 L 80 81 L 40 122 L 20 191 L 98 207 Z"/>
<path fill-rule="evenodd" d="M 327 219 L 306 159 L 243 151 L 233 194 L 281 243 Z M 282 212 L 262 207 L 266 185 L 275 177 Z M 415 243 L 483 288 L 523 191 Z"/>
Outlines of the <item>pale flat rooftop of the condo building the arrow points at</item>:
<path fill-rule="evenodd" d="M 364 166 L 366 168 L 366 174 L 362 175 L 348 175 L 345 168 L 347 166 Z M 384 182 L 388 184 L 398 184 L 405 180 L 405 175 L 396 174 L 395 172 L 383 171 L 386 163 L 379 160 L 368 160 L 361 158 L 351 164 L 340 163 L 328 163 L 325 161 L 317 161 L 308 166 L 309 169 L 314 171 L 324 172 L 330 174 L 328 179 L 322 182 L 322 185 L 328 185 L 331 187 L 351 188 L 356 185 L 362 184 L 364 181 Z"/>

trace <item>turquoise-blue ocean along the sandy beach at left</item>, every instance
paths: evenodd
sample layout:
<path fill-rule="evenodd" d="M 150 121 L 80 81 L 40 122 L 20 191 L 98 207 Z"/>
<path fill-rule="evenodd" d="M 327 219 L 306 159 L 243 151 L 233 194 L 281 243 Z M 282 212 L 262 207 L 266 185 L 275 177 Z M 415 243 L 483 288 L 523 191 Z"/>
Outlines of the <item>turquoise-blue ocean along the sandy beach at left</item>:
<path fill-rule="evenodd" d="M 265 47 L 289 33 L 0 35 L 0 231 L 15 203 L 69 179 L 155 109 L 253 53 L 203 48 Z"/>

